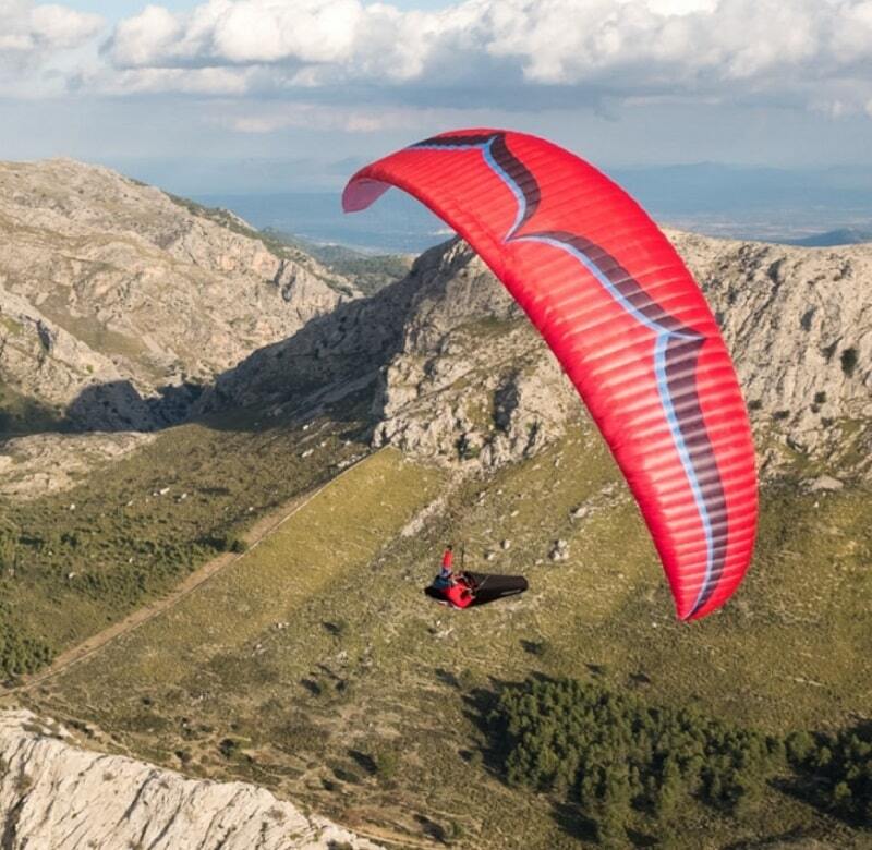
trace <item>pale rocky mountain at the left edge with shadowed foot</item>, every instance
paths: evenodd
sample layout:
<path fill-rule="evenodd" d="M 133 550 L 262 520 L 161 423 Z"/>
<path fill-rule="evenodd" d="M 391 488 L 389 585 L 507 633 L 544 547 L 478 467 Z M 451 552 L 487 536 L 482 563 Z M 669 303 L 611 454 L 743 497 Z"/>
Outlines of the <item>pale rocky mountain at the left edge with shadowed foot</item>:
<path fill-rule="evenodd" d="M 149 429 L 360 292 L 245 222 L 72 160 L 0 163 L 0 378 L 74 425 Z"/>

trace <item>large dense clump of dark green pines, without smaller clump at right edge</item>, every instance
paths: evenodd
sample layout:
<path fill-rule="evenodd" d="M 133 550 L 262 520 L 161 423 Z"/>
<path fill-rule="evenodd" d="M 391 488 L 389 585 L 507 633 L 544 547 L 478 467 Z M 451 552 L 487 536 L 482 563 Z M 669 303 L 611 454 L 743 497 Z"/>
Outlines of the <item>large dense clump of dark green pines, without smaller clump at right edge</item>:
<path fill-rule="evenodd" d="M 775 738 L 570 679 L 506 687 L 491 722 L 508 780 L 556 792 L 609 846 L 631 826 L 668 834 L 693 801 L 754 806 L 783 764 Z"/>

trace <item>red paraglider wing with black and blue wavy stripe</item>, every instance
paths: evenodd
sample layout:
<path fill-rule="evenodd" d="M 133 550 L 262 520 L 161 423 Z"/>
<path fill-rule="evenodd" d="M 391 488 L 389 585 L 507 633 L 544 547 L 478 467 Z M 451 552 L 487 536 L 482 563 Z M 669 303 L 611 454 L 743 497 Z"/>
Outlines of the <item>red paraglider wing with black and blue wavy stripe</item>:
<path fill-rule="evenodd" d="M 753 444 L 717 324 L 668 240 L 595 168 L 521 133 L 412 145 L 361 169 L 343 207 L 391 185 L 470 243 L 557 355 L 640 506 L 678 616 L 723 605 L 754 545 Z"/>

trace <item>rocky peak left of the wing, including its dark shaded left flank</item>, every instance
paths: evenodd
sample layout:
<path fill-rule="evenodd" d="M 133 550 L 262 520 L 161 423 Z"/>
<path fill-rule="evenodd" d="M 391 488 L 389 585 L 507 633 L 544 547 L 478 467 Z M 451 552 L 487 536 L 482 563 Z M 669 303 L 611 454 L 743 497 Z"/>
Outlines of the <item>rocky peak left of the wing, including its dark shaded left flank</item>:
<path fill-rule="evenodd" d="M 365 389 L 373 445 L 471 467 L 534 453 L 579 404 L 504 287 L 462 242 L 404 280 L 342 304 L 223 375 L 197 410 L 298 410 Z"/>

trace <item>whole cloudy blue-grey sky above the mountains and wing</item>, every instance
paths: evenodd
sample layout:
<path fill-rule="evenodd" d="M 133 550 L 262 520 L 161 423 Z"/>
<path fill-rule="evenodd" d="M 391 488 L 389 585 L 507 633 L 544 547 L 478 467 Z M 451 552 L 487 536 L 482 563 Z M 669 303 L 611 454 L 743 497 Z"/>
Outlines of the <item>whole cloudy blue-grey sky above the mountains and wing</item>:
<path fill-rule="evenodd" d="M 872 0 L 0 0 L 0 159 L 320 191 L 436 132 L 602 167 L 864 167 Z"/>

